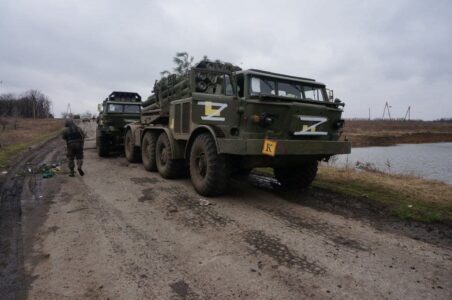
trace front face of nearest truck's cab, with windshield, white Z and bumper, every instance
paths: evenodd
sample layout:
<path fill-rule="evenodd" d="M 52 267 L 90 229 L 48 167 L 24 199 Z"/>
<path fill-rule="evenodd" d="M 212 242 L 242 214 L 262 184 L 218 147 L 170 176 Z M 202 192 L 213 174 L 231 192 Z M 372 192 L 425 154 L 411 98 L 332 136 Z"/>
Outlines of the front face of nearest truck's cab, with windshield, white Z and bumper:
<path fill-rule="evenodd" d="M 225 141 L 234 144 L 233 152 L 261 155 L 263 141 L 273 140 L 274 152 L 267 156 L 327 159 L 349 153 L 350 143 L 338 142 L 344 104 L 333 102 L 323 83 L 256 69 L 236 72 L 234 77 L 240 119 L 230 138 L 237 141 Z"/>

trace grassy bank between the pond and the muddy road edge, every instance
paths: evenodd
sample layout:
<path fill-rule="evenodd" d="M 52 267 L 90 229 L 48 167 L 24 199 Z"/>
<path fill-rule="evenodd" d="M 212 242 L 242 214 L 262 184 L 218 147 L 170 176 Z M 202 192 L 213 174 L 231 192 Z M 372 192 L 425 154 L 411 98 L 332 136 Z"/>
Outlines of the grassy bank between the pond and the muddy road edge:
<path fill-rule="evenodd" d="M 273 176 L 269 168 L 258 173 Z M 369 203 L 400 219 L 452 224 L 452 185 L 439 181 L 322 165 L 312 186 Z"/>

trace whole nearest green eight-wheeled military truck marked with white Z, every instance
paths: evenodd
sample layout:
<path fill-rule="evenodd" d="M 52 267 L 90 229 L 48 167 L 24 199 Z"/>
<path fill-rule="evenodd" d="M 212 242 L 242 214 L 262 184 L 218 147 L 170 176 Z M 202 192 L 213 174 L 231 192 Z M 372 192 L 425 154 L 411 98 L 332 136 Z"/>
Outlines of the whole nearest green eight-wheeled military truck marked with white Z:
<path fill-rule="evenodd" d="M 256 167 L 304 188 L 319 161 L 350 153 L 339 141 L 343 105 L 313 79 L 201 61 L 156 82 L 140 122 L 126 126 L 125 153 L 164 178 L 188 167 L 204 196 L 224 193 L 232 173 Z"/>

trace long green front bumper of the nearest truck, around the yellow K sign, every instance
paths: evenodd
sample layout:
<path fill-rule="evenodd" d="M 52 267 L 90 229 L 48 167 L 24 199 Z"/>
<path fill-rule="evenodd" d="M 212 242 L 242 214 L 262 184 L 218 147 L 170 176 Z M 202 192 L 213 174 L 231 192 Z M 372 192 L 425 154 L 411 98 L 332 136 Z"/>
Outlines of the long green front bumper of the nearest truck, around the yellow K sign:
<path fill-rule="evenodd" d="M 234 155 L 263 155 L 264 139 L 217 139 L 218 152 Z M 349 154 L 351 143 L 344 141 L 277 140 L 275 156 Z"/>

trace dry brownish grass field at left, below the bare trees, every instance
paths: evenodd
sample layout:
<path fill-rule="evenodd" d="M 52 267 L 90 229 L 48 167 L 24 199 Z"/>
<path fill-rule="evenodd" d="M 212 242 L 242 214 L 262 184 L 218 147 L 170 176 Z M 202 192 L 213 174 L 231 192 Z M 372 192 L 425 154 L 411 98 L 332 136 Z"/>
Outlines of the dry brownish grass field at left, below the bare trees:
<path fill-rule="evenodd" d="M 7 168 L 11 159 L 30 146 L 56 136 L 63 124 L 62 119 L 19 119 L 16 129 L 7 126 L 1 130 L 0 168 Z"/>

